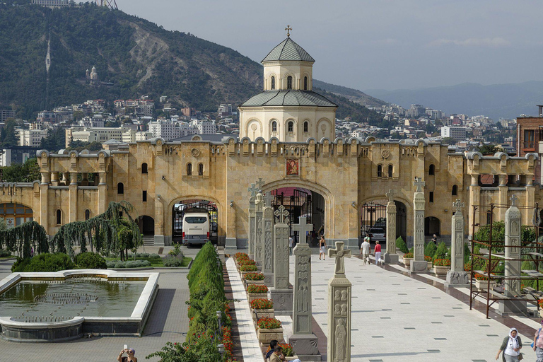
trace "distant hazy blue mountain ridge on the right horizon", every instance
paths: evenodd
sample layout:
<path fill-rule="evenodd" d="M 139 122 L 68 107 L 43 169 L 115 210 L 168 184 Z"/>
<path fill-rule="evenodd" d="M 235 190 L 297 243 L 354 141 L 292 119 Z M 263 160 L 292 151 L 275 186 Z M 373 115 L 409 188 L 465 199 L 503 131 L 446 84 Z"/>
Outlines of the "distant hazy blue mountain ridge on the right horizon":
<path fill-rule="evenodd" d="M 535 115 L 536 105 L 543 101 L 543 82 L 529 81 L 490 86 L 462 83 L 449 87 L 366 92 L 407 108 L 413 103 L 418 103 L 443 110 L 447 114 L 486 115 L 497 121 L 500 117 L 513 119 L 520 115 Z"/>

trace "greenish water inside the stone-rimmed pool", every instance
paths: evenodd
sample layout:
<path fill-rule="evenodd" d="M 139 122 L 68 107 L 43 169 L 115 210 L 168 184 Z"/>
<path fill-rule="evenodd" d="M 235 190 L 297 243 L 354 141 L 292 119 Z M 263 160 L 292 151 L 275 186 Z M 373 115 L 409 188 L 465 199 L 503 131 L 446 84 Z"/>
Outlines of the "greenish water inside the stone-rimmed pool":
<path fill-rule="evenodd" d="M 20 281 L 0 294 L 0 317 L 25 322 L 72 317 L 130 317 L 146 281 L 76 278 Z M 40 319 L 41 317 L 41 319 Z"/>

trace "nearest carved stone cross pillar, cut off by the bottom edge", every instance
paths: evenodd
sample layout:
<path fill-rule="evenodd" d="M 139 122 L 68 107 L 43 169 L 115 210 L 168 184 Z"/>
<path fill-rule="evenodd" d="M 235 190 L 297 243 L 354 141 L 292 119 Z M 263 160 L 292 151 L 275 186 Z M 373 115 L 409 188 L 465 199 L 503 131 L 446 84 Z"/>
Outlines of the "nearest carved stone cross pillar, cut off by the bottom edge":
<path fill-rule="evenodd" d="M 334 277 L 328 281 L 328 362 L 351 361 L 351 282 L 345 276 L 344 242 L 337 241 L 328 250 L 329 258 L 336 258 Z"/>

